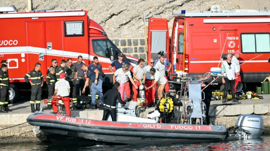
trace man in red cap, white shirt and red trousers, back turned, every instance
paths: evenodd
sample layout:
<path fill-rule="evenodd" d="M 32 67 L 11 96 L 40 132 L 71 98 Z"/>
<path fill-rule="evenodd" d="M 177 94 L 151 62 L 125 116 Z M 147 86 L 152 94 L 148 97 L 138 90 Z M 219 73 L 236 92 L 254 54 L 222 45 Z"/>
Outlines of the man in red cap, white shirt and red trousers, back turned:
<path fill-rule="evenodd" d="M 61 73 L 60 74 L 60 79 L 55 83 L 55 91 L 54 95 L 59 95 L 61 96 L 61 100 L 65 104 L 66 110 L 67 110 L 67 116 L 70 116 L 70 101 L 69 101 L 69 93 L 70 93 L 70 86 L 67 80 L 65 80 L 66 74 Z M 52 103 L 53 105 L 53 112 L 57 112 L 57 106 L 55 103 Z M 61 103 L 61 107 L 63 109 L 63 104 Z"/>

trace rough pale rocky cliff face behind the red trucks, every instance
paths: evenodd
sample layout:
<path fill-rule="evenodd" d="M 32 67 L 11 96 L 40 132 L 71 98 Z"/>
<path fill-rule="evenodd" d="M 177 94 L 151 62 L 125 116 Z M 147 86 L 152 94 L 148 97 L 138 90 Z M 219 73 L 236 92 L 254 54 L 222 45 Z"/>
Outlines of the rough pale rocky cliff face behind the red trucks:
<path fill-rule="evenodd" d="M 237 0 L 32 0 L 32 10 L 88 10 L 91 19 L 101 24 L 110 38 L 144 37 L 144 16 L 153 12 L 167 18 L 172 27 L 173 11 L 205 11 L 211 5 L 220 5 L 222 10 L 239 8 Z M 14 5 L 19 12 L 25 12 L 27 0 L 0 0 L 1 6 Z"/>

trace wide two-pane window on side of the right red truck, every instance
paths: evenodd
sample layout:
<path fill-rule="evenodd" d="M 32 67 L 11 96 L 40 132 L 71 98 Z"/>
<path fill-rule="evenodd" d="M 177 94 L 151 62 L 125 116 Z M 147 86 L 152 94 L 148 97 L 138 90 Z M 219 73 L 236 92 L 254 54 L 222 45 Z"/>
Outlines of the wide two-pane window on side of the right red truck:
<path fill-rule="evenodd" d="M 269 33 L 248 33 L 241 34 L 242 52 L 261 53 L 270 52 Z"/>

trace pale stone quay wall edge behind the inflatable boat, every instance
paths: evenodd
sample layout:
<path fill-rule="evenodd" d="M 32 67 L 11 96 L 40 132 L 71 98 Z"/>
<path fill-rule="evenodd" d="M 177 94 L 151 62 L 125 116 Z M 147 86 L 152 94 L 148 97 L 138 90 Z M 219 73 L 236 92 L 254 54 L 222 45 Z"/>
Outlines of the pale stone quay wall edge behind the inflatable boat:
<path fill-rule="evenodd" d="M 222 100 L 211 101 L 209 110 L 210 122 L 213 124 L 223 124 L 228 128 L 234 126 L 238 115 L 257 114 L 263 116 L 264 133 L 268 134 L 270 133 L 270 95 L 262 96 L 263 99 L 239 100 L 240 103 L 232 103 L 232 101 L 222 103 Z M 47 104 L 43 101 L 41 101 L 41 107 L 44 112 L 53 112 L 52 110 L 47 110 Z M 9 108 L 13 111 L 0 113 L 0 144 L 46 141 L 42 134 L 34 134 L 32 131 L 34 126 L 30 126 L 26 122 L 26 118 L 32 114 L 30 102 L 27 99 L 10 104 Z M 140 117 L 146 118 L 148 112 L 153 110 L 155 110 L 155 107 L 141 108 Z M 175 119 L 177 118 L 177 110 L 178 107 L 175 107 Z M 101 120 L 103 110 L 71 110 L 71 116 Z"/>

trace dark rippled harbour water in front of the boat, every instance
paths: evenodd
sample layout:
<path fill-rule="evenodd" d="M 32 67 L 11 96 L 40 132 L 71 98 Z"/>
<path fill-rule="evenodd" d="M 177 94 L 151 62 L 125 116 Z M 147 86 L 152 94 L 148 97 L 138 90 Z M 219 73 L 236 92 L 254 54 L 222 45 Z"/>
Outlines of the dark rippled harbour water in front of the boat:
<path fill-rule="evenodd" d="M 128 141 L 128 140 L 127 140 Z M 196 144 L 136 144 L 136 145 L 55 145 L 52 143 L 21 143 L 0 145 L 1 151 L 11 150 L 35 150 L 35 151 L 76 151 L 76 150 L 270 150 L 270 135 L 263 135 L 260 139 L 253 140 L 236 140 L 215 143 L 196 143 Z"/>

